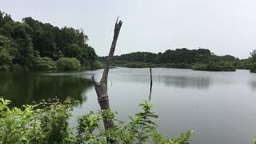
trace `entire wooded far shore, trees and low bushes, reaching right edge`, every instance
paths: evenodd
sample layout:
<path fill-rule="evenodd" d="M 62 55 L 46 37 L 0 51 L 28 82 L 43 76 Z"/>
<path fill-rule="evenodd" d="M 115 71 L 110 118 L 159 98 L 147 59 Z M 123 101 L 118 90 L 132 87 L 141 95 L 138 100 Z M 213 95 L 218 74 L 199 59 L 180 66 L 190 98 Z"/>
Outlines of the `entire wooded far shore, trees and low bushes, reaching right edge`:
<path fill-rule="evenodd" d="M 104 62 L 106 57 L 100 57 Z M 113 66 L 126 67 L 172 67 L 209 71 L 234 71 L 247 69 L 254 72 L 256 51 L 247 59 L 235 58 L 232 55 L 218 56 L 207 49 L 188 50 L 186 48 L 166 50 L 158 54 L 150 52 L 134 52 L 114 56 Z"/>

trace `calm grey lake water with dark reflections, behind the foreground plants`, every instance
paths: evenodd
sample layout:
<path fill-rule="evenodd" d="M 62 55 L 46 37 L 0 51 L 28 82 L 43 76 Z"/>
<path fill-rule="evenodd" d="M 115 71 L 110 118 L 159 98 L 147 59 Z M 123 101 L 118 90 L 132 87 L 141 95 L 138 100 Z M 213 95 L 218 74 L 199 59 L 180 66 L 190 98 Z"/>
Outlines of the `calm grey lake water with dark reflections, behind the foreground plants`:
<path fill-rule="evenodd" d="M 256 74 L 249 70 L 206 72 L 153 68 L 151 102 L 159 115 L 161 134 L 176 137 L 194 130 L 192 144 L 252 143 L 256 136 Z M 74 97 L 81 104 L 70 119 L 90 110 L 98 110 L 97 96 L 90 77 L 101 78 L 102 70 L 72 73 L 0 73 L 0 95 L 14 106 L 42 98 L 61 100 Z M 118 118 L 138 112 L 138 104 L 149 98 L 150 70 L 116 68 L 108 80 L 110 107 Z"/>

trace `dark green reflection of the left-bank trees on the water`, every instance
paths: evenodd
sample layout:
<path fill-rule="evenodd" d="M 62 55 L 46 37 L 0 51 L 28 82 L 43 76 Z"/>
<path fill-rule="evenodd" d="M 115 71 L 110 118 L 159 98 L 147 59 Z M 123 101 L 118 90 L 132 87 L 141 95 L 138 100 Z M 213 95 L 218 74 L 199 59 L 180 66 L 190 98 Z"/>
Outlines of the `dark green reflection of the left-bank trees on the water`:
<path fill-rule="evenodd" d="M 38 73 L 0 73 L 0 95 L 10 99 L 15 106 L 22 106 L 40 99 L 66 96 L 80 102 L 86 101 L 86 90 L 92 82 L 85 78 L 72 78 L 69 75 L 48 76 Z"/>

